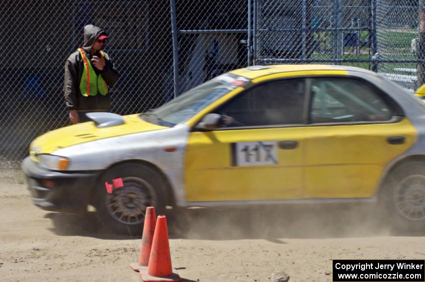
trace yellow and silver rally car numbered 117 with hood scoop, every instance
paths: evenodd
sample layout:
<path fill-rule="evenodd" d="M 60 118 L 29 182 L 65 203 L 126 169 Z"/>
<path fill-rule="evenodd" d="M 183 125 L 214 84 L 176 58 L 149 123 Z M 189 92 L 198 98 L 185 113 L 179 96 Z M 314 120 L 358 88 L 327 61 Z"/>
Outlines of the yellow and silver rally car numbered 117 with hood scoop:
<path fill-rule="evenodd" d="M 147 206 L 368 201 L 396 225 L 425 223 L 425 103 L 371 71 L 251 66 L 144 114 L 88 116 L 31 143 L 38 207 L 93 205 L 120 233 Z"/>

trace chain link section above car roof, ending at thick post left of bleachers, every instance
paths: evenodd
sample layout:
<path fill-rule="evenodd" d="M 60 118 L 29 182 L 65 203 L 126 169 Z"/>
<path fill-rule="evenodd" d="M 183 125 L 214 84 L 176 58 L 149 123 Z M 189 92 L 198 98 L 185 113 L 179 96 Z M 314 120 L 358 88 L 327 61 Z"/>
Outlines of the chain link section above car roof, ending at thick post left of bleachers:
<path fill-rule="evenodd" d="M 258 59 L 334 64 L 352 59 L 369 68 L 359 60 L 370 58 L 370 9 L 365 0 L 260 1 Z"/>

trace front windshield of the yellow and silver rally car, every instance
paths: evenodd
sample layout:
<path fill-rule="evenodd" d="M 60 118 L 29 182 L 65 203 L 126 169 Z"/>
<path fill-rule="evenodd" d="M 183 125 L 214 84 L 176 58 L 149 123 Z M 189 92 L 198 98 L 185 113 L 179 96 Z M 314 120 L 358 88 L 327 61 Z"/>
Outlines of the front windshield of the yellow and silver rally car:
<path fill-rule="evenodd" d="M 247 78 L 230 73 L 220 75 L 184 92 L 159 108 L 142 114 L 141 118 L 162 126 L 174 126 L 187 121 L 206 106 L 248 81 Z"/>

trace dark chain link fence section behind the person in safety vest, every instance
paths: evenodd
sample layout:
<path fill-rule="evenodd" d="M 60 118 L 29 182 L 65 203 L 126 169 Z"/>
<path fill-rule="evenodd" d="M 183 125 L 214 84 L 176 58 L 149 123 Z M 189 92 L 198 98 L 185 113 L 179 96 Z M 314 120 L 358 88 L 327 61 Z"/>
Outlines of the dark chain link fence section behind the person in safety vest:
<path fill-rule="evenodd" d="M 19 161 L 36 136 L 70 124 L 63 67 L 90 23 L 107 32 L 104 50 L 120 74 L 112 112 L 143 112 L 169 99 L 172 44 L 163 1 L 2 0 L 0 159 Z"/>

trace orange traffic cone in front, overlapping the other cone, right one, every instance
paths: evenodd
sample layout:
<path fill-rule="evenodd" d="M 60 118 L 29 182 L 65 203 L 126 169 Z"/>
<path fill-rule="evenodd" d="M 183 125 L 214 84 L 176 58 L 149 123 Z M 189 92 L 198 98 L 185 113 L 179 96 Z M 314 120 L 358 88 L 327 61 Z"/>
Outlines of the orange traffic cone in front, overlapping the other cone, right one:
<path fill-rule="evenodd" d="M 172 273 L 165 216 L 158 216 L 156 220 L 149 265 L 147 270 L 140 269 L 140 277 L 144 282 L 181 281 L 177 274 Z"/>

